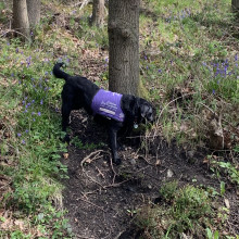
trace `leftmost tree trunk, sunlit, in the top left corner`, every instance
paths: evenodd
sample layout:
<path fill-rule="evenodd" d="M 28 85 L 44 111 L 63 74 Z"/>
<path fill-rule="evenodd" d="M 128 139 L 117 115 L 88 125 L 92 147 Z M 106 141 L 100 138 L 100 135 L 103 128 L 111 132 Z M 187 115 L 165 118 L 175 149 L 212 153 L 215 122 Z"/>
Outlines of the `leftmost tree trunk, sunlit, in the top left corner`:
<path fill-rule="evenodd" d="M 13 0 L 13 29 L 30 39 L 26 0 Z"/>

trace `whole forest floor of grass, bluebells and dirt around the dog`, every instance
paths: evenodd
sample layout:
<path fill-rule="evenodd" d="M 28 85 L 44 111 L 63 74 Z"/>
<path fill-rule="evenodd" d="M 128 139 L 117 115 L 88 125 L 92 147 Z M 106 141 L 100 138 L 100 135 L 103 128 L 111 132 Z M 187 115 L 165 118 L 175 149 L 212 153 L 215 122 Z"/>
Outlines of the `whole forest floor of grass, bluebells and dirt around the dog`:
<path fill-rule="evenodd" d="M 84 110 L 72 112 L 72 141 L 62 143 L 64 83 L 51 75 L 61 59 L 66 72 L 106 89 L 106 24 L 89 26 L 91 4 L 42 0 L 28 45 L 9 30 L 10 1 L 0 3 L 0 238 L 238 238 L 239 41 L 230 1 L 142 2 L 140 79 L 158 118 L 120 139 L 118 166 L 105 127 Z M 215 149 L 210 142 L 218 131 L 223 146 Z M 172 231 L 179 225 L 167 214 L 176 198 L 161 194 L 172 181 L 191 187 L 189 201 L 210 202 L 213 213 L 196 223 L 187 217 L 189 227 Z M 211 201 L 202 201 L 202 191 Z M 139 225 L 147 206 L 160 218 Z"/>

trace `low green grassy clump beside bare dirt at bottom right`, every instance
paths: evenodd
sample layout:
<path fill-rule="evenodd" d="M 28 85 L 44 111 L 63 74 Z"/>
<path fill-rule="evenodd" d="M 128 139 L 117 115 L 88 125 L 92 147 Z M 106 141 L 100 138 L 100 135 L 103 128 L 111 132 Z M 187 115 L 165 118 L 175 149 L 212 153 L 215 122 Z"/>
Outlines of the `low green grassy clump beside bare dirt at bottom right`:
<path fill-rule="evenodd" d="M 149 238 L 177 238 L 189 231 L 204 235 L 204 225 L 210 226 L 214 216 L 207 191 L 193 186 L 177 188 L 177 183 L 168 183 L 160 194 L 166 204 L 147 206 L 137 215 L 138 226 Z"/>

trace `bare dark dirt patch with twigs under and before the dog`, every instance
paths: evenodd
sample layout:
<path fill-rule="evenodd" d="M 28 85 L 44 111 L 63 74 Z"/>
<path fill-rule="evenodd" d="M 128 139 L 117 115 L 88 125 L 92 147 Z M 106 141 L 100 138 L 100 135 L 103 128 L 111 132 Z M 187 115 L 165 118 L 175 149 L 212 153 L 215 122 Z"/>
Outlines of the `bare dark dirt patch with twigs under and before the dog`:
<path fill-rule="evenodd" d="M 76 238 L 139 238 L 140 231 L 131 227 L 135 212 L 143 204 L 153 203 L 159 197 L 159 188 L 167 180 L 219 187 L 203 163 L 206 152 L 185 152 L 155 137 L 146 153 L 138 150 L 139 140 L 130 138 L 123 140 L 120 151 L 123 163 L 115 166 L 111 163 L 103 126 L 78 111 L 72 114 L 71 128 L 73 138 L 80 139 L 84 146 L 93 143 L 96 147 L 79 149 L 71 143 L 68 158 L 63 160 L 70 176 L 65 180 L 64 206 Z M 228 194 L 230 223 L 234 228 L 236 224 L 235 230 L 238 230 L 238 198 L 235 194 L 234 191 Z"/>

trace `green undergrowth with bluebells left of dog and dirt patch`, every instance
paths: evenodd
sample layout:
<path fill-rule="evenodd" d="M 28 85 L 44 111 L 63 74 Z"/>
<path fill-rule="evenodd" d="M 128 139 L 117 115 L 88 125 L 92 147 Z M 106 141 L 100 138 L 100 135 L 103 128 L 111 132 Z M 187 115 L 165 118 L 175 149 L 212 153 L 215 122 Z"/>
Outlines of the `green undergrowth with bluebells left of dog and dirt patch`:
<path fill-rule="evenodd" d="M 0 39 L 0 175 L 11 186 L 0 206 L 13 212 L 1 215 L 0 237 L 67 238 L 60 183 L 67 177 L 60 162 L 66 146 L 60 141 L 61 83 L 52 77 L 52 52 L 13 39 Z"/>

